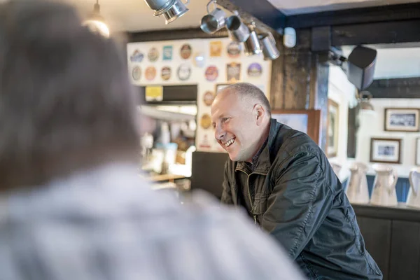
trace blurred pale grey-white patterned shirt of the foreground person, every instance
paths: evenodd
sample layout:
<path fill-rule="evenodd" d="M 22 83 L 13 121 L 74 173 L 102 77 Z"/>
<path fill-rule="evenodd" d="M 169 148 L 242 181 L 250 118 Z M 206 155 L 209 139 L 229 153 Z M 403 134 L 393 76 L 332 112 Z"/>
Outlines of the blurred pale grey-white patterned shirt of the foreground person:
<path fill-rule="evenodd" d="M 1 280 L 302 279 L 268 235 L 203 193 L 181 205 L 107 165 L 0 202 Z"/>

